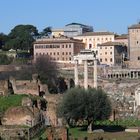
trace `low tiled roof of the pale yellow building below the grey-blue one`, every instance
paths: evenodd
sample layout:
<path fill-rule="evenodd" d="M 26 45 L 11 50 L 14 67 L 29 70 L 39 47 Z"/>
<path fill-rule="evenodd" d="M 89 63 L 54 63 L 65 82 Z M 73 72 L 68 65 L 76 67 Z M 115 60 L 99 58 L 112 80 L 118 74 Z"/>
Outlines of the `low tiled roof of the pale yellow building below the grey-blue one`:
<path fill-rule="evenodd" d="M 79 36 L 98 36 L 98 35 L 114 35 L 112 32 L 87 32 Z"/>

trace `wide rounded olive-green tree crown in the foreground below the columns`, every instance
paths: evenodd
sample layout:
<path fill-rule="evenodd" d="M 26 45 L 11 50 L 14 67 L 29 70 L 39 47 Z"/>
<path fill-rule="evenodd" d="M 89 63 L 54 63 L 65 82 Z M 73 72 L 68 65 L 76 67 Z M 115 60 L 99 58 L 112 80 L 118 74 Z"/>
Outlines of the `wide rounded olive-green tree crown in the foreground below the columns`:
<path fill-rule="evenodd" d="M 73 88 L 67 91 L 60 106 L 58 115 L 70 120 L 87 120 L 88 125 L 95 120 L 108 119 L 111 103 L 102 90 Z"/>

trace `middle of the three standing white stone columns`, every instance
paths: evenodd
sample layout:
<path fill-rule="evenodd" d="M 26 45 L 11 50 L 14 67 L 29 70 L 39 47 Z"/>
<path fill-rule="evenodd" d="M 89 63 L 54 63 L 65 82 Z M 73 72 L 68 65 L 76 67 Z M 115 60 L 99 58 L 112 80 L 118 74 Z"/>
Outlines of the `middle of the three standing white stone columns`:
<path fill-rule="evenodd" d="M 88 65 L 87 65 L 87 60 L 84 60 L 84 88 L 88 89 Z"/>

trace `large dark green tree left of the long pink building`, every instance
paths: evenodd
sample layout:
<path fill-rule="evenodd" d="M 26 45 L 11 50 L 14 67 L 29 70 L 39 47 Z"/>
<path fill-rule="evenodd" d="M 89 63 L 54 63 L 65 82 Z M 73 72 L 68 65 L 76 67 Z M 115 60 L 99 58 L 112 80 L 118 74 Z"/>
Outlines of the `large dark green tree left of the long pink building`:
<path fill-rule="evenodd" d="M 17 25 L 8 35 L 5 49 L 30 50 L 37 35 L 38 31 L 33 25 Z"/>

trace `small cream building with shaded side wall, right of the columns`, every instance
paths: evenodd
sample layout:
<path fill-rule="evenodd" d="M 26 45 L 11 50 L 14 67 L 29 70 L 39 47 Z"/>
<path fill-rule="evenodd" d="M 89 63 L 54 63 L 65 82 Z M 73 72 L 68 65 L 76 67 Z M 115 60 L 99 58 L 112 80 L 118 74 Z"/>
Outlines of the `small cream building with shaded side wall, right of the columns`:
<path fill-rule="evenodd" d="M 98 45 L 100 64 L 121 66 L 126 55 L 127 47 L 120 42 L 106 42 Z"/>

